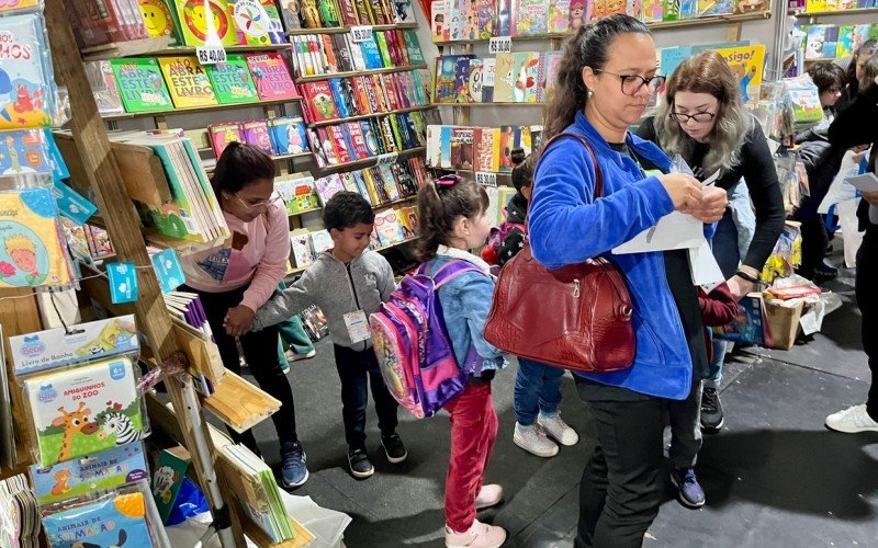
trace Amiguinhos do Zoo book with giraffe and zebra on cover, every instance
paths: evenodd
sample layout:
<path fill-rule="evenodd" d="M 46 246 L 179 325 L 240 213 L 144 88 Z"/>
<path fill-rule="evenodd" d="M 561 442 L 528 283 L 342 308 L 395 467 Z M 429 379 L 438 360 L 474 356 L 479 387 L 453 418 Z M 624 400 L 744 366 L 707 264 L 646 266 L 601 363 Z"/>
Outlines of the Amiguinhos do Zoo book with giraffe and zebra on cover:
<path fill-rule="evenodd" d="M 50 466 L 137 442 L 144 416 L 128 357 L 24 379 L 37 463 Z"/>

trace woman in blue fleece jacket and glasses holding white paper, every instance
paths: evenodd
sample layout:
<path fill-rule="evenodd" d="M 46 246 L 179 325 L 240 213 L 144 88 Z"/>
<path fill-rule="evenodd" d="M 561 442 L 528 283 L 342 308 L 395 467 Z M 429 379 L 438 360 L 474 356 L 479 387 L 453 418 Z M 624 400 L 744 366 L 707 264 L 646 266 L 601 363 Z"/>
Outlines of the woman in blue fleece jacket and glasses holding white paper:
<path fill-rule="evenodd" d="M 667 171 L 655 145 L 628 132 L 664 79 L 646 26 L 612 15 L 582 27 L 564 46 L 544 136 L 558 138 L 537 165 L 530 209 L 534 258 L 555 269 L 605 255 L 624 274 L 634 304 L 637 355 L 624 370 L 577 375 L 598 444 L 579 491 L 577 546 L 640 546 L 662 501 L 665 412 L 691 388 L 693 358 L 706 361 L 698 294 L 685 252 L 609 251 L 674 210 L 716 222 L 725 192 L 683 174 L 646 176 L 640 160 Z M 604 195 L 594 196 L 596 170 Z M 548 313 L 548 311 L 547 311 Z"/>

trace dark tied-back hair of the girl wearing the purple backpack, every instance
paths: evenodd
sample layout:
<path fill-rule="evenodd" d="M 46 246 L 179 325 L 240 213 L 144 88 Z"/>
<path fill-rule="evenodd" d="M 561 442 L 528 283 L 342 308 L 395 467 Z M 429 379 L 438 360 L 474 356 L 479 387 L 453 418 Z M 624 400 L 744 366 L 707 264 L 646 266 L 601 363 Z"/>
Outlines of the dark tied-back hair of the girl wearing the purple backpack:
<path fill-rule="evenodd" d="M 431 260 L 439 246 L 448 244 L 458 217 L 472 219 L 487 207 L 487 193 L 472 179 L 458 178 L 450 185 L 427 183 L 421 186 L 418 191 L 418 260 Z"/>

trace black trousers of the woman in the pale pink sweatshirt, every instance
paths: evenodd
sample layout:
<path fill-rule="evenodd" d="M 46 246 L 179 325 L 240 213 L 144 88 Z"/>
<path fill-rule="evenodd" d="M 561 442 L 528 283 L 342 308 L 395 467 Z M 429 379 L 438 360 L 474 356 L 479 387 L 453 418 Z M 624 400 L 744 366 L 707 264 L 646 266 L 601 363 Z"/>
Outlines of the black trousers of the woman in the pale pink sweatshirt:
<path fill-rule="evenodd" d="M 204 312 L 207 315 L 207 322 L 213 330 L 213 338 L 219 347 L 219 356 L 226 369 L 240 375 L 240 358 L 235 338 L 226 334 L 223 328 L 223 320 L 228 310 L 240 305 L 244 292 L 247 286 L 223 293 L 199 292 L 191 287 L 182 286 L 181 292 L 198 293 L 201 302 L 204 305 Z M 244 350 L 244 358 L 250 368 L 250 373 L 256 378 L 259 388 L 277 398 L 281 402 L 281 409 L 271 415 L 274 427 L 278 430 L 278 439 L 281 443 L 296 442 L 299 438 L 295 433 L 295 403 L 293 402 L 293 389 L 290 380 L 281 369 L 281 362 L 278 355 L 278 327 L 272 326 L 262 331 L 245 334 L 240 338 L 240 346 Z M 252 431 L 244 434 L 228 429 L 228 434 L 235 443 L 246 445 L 250 450 L 260 455 L 256 445 L 256 437 Z"/>

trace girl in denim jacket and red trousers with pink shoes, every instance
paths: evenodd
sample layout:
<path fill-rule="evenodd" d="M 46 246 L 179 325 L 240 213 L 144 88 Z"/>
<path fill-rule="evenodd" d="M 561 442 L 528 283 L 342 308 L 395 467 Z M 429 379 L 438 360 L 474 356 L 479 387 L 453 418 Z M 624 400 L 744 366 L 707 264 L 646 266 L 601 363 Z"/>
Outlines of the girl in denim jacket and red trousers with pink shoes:
<path fill-rule="evenodd" d="M 489 266 L 466 250 L 485 243 L 491 225 L 488 198 L 475 181 L 443 176 L 418 192 L 420 218 L 418 258 L 426 273 L 463 261 L 476 269 L 450 279 L 437 289 L 442 320 L 458 364 L 468 363 L 472 351 L 480 362 L 463 391 L 446 403 L 451 414 L 451 456 L 446 477 L 446 546 L 499 547 L 506 532 L 480 523 L 477 510 L 494 506 L 503 488 L 483 486 L 484 471 L 497 437 L 497 412 L 491 398 L 491 380 L 506 366 L 500 351 L 485 341 L 484 330 L 494 295 Z"/>

